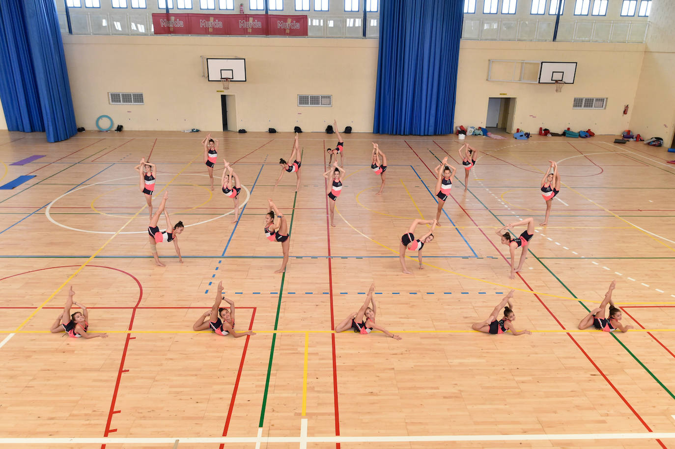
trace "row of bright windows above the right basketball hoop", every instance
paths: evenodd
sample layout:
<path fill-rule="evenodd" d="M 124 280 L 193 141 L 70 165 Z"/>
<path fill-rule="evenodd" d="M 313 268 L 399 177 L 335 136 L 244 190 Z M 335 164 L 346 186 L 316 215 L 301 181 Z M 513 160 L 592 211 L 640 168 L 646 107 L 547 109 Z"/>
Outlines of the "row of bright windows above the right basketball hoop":
<path fill-rule="evenodd" d="M 464 0 L 464 13 L 473 14 L 476 12 L 477 0 Z M 640 0 L 640 7 L 637 7 L 638 0 L 622 0 L 621 16 L 635 16 L 641 17 L 649 16 L 651 11 L 651 0 Z M 502 14 L 515 14 L 516 3 L 518 0 L 502 0 Z M 545 14 L 547 0 L 532 0 L 530 8 L 531 14 Z M 591 8 L 591 3 L 593 7 Z M 551 15 L 564 13 L 565 0 L 550 0 L 548 13 Z M 484 0 L 483 14 L 496 14 L 499 10 L 499 0 Z M 607 0 L 575 0 L 574 2 L 574 16 L 588 16 L 589 11 L 591 16 L 607 16 Z"/>

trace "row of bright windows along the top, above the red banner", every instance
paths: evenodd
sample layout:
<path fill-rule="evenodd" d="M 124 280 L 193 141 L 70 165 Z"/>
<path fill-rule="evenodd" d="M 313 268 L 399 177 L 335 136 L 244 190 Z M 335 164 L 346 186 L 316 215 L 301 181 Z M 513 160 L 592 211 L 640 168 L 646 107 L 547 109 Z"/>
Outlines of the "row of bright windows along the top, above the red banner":
<path fill-rule="evenodd" d="M 234 10 L 234 0 L 194 0 L 199 2 L 200 9 L 215 9 L 216 2 L 218 9 Z M 264 11 L 265 1 L 267 1 L 267 9 L 269 11 L 283 11 L 284 0 L 248 0 L 248 9 L 251 11 Z M 296 11 L 309 11 L 309 5 L 312 0 L 294 0 Z M 328 0 L 313 0 L 315 11 L 328 11 Z M 472 0 L 475 2 L 475 0 Z M 496 1 L 496 0 L 495 0 Z M 508 1 L 508 0 L 504 0 Z M 65 0 L 65 4 L 71 8 L 82 7 L 83 0 Z M 146 0 L 111 0 L 113 8 L 146 8 Z M 515 0 L 514 0 L 515 3 Z M 159 9 L 192 9 L 192 0 L 157 0 L 157 7 Z M 475 6 L 475 4 L 474 4 Z M 100 8 L 101 0 L 84 0 L 84 7 Z M 360 0 L 344 0 L 344 10 L 346 12 L 358 12 L 360 7 Z M 466 9 L 466 5 L 464 6 Z M 474 7 L 474 11 L 475 11 Z M 366 0 L 366 12 L 377 12 L 377 0 Z"/>

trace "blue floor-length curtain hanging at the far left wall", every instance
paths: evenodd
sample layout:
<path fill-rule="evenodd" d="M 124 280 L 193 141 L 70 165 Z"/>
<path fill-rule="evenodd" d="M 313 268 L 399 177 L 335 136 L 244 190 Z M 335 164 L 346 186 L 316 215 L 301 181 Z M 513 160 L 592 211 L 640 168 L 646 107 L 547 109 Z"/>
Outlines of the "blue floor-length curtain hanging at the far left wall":
<path fill-rule="evenodd" d="M 0 1 L 0 101 L 9 131 L 77 133 L 53 0 Z"/>

